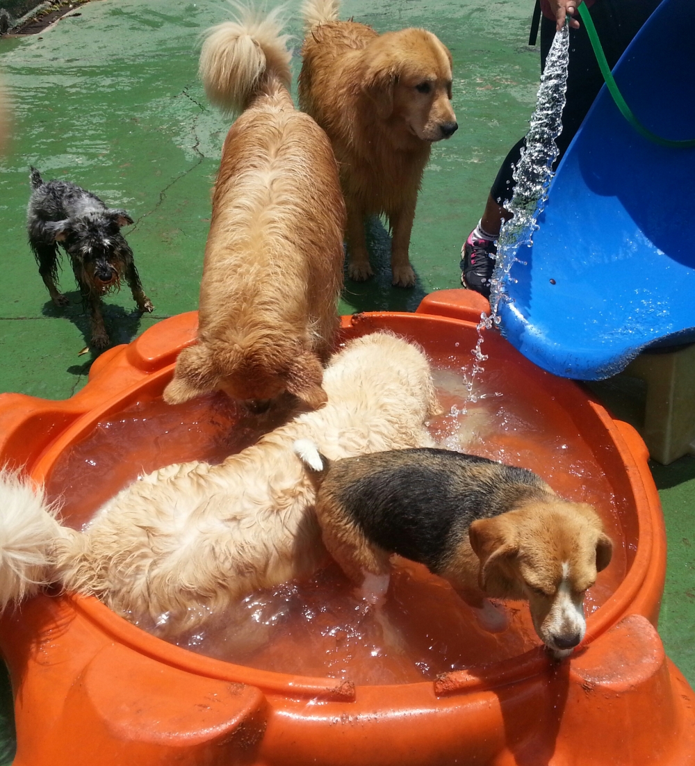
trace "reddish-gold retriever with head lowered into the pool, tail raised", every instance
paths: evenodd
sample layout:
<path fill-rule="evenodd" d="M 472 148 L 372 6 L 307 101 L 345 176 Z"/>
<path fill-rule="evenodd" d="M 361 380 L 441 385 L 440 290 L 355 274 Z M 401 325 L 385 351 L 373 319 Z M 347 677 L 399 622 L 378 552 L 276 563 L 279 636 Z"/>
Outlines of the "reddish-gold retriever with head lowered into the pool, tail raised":
<path fill-rule="evenodd" d="M 323 130 L 295 110 L 277 11 L 211 28 L 208 98 L 243 113 L 215 191 L 195 345 L 179 355 L 169 403 L 221 389 L 242 400 L 290 391 L 326 402 L 322 362 L 337 329 L 345 205 Z"/>

